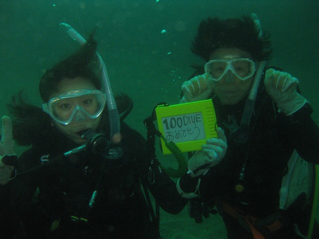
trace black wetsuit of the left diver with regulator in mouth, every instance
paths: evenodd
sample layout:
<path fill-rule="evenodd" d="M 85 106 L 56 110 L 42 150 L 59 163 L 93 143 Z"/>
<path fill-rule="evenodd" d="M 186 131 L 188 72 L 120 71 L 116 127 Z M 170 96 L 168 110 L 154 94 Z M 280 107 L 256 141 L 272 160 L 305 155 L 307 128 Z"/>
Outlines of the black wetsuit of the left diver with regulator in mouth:
<path fill-rule="evenodd" d="M 83 151 L 52 162 L 78 146 L 58 133 L 55 141 L 43 140 L 25 151 L 18 160 L 18 173 L 41 163 L 47 166 L 1 186 L 0 238 L 159 238 L 141 190 L 150 166 L 146 140 L 125 123 L 121 133 L 121 159 Z M 149 188 L 160 206 L 173 214 L 181 211 L 186 201 L 173 181 L 164 173 L 156 178 Z M 97 197 L 89 207 L 94 191 Z"/>

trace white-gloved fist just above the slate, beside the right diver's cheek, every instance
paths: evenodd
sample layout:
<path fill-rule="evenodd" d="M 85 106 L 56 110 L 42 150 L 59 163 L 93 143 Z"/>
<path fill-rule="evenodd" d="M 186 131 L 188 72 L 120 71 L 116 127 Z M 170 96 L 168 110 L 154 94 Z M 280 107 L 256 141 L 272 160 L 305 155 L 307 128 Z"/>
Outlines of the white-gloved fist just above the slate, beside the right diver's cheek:
<path fill-rule="evenodd" d="M 215 83 L 210 74 L 195 76 L 182 84 L 181 90 L 184 96 L 179 103 L 207 100 L 214 88 Z"/>

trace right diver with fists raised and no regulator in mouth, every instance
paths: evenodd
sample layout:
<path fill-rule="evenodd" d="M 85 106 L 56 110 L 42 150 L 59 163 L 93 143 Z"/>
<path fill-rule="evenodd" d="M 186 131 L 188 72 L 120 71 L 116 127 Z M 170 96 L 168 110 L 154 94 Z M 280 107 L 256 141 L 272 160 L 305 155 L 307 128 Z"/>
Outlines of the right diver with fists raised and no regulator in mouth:
<path fill-rule="evenodd" d="M 272 49 L 257 16 L 203 19 L 191 50 L 206 64 L 194 66 L 196 72 L 183 83 L 181 103 L 212 99 L 226 139 L 207 143 L 190 157 L 178 192 L 196 205 L 216 205 L 228 239 L 310 239 L 311 234 L 318 239 L 318 224 L 310 223 L 315 179 L 301 178 L 311 190 L 287 207 L 280 206 L 280 195 L 294 150 L 310 165 L 309 174 L 319 164 L 319 128 L 298 79 L 264 68 Z"/>

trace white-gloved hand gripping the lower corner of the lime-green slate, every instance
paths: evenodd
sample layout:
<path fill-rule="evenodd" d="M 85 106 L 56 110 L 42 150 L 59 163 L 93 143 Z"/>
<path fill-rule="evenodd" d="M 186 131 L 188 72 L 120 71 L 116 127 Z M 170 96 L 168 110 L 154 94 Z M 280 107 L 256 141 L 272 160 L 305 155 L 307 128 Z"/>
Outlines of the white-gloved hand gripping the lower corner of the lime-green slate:
<path fill-rule="evenodd" d="M 227 139 L 220 127 L 217 128 L 217 138 L 209 138 L 206 143 L 201 146 L 202 150 L 196 151 L 188 160 L 188 173 L 191 176 L 205 175 L 226 154 Z"/>

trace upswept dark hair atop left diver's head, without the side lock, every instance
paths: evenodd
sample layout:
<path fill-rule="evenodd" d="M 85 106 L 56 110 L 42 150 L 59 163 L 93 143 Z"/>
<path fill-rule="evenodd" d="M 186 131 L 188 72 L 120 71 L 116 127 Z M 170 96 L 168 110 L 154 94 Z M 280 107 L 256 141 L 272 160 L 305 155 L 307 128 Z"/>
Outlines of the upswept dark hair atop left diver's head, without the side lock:
<path fill-rule="evenodd" d="M 97 89 L 101 89 L 101 82 L 96 76 L 94 59 L 97 42 L 90 35 L 86 44 L 77 52 L 70 55 L 65 60 L 58 62 L 41 77 L 39 92 L 43 102 L 48 102 L 52 92 L 59 88 L 59 83 L 63 79 L 75 77 L 87 78 Z"/>

